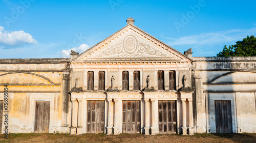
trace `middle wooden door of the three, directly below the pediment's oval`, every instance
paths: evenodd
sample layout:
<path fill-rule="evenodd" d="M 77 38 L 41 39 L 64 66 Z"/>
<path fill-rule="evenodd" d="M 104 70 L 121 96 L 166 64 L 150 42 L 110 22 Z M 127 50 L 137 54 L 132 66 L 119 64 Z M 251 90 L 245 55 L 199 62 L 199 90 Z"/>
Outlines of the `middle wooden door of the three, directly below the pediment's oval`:
<path fill-rule="evenodd" d="M 123 101 L 123 133 L 140 133 L 140 101 Z"/>

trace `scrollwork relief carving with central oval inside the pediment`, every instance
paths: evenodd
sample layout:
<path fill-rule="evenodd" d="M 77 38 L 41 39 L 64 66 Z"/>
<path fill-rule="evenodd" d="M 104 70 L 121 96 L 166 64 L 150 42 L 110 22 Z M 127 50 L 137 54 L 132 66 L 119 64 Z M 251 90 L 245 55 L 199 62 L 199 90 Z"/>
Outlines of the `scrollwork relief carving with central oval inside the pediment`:
<path fill-rule="evenodd" d="M 112 46 L 98 54 L 93 55 L 95 58 L 164 58 L 168 57 L 161 50 L 151 47 L 149 44 L 139 43 L 134 36 L 126 36 L 122 44 Z"/>

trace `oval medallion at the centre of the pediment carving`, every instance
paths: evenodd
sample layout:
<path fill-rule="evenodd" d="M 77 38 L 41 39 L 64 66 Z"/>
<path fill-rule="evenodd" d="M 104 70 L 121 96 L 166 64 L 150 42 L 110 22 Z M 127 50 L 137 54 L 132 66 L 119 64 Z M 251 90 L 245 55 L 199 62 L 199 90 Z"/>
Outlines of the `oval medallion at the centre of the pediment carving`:
<path fill-rule="evenodd" d="M 137 40 L 133 36 L 127 36 L 123 40 L 123 48 L 127 53 L 134 53 L 137 49 Z"/>

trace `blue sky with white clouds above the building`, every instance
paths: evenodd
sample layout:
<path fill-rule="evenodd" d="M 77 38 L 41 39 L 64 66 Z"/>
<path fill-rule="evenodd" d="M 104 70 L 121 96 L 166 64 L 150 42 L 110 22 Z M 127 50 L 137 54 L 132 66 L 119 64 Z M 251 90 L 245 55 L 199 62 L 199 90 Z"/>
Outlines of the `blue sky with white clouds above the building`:
<path fill-rule="evenodd" d="M 64 58 L 135 19 L 135 25 L 193 56 L 256 35 L 255 1 L 0 0 L 0 58 Z"/>

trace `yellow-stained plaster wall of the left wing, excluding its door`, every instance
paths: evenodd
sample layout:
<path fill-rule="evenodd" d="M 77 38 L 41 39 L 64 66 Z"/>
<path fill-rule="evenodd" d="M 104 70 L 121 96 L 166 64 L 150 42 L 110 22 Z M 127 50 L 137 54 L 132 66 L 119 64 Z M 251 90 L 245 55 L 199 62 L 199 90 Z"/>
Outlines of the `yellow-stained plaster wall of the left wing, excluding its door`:
<path fill-rule="evenodd" d="M 34 132 L 35 101 L 50 101 L 51 133 L 68 131 L 61 127 L 68 124 L 68 117 L 62 116 L 69 108 L 68 60 L 0 60 L 0 100 L 4 100 L 4 85 L 8 85 L 10 133 Z"/>

